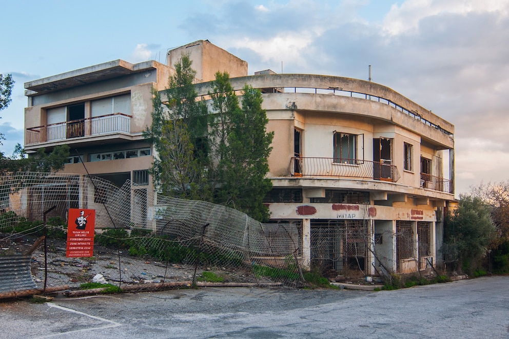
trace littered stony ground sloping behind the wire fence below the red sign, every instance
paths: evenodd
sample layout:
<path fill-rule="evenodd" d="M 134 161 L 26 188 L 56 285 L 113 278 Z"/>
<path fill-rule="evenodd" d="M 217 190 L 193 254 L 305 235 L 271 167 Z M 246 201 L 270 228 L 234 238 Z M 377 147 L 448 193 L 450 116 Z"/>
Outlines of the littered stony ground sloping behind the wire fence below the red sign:
<path fill-rule="evenodd" d="M 37 240 L 24 236 L 16 239 L 0 235 L 0 255 L 24 254 Z M 149 257 L 131 257 L 127 250 L 116 251 L 94 245 L 94 257 L 67 258 L 65 240 L 47 240 L 47 264 L 45 265 L 44 242 L 32 253 L 31 273 L 37 288 L 69 285 L 77 288 L 80 284 L 92 282 L 101 274 L 107 283 L 147 284 L 160 282 L 192 281 L 194 265 L 172 264 L 154 261 Z M 120 267 L 119 267 L 120 263 Z M 203 271 L 214 271 L 228 282 L 255 282 L 250 272 L 243 268 L 198 267 L 197 277 Z M 47 277 L 46 273 L 47 272 Z"/>

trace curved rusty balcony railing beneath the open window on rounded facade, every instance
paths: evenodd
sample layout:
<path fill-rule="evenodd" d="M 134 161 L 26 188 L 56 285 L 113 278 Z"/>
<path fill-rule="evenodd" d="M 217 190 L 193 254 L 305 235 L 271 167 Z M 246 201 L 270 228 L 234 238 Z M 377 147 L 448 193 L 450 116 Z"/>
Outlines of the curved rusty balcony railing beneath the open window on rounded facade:
<path fill-rule="evenodd" d="M 288 171 L 292 176 L 369 178 L 397 182 L 398 168 L 384 162 L 336 159 L 336 158 L 291 158 Z"/>

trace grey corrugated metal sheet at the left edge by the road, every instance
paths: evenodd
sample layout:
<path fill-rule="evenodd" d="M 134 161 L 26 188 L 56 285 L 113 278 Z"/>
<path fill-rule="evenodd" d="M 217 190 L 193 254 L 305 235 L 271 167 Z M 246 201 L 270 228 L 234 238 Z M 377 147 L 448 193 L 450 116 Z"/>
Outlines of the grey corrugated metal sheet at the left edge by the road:
<path fill-rule="evenodd" d="M 0 292 L 35 288 L 30 273 L 30 256 L 0 256 Z"/>

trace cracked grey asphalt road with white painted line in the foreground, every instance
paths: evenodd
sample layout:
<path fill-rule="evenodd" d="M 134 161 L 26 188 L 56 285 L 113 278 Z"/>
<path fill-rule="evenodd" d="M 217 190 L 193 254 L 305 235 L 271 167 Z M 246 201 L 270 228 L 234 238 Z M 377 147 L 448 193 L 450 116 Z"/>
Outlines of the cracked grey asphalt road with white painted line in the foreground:
<path fill-rule="evenodd" d="M 200 288 L 0 303 L 2 338 L 509 338 L 509 277 L 396 291 Z"/>

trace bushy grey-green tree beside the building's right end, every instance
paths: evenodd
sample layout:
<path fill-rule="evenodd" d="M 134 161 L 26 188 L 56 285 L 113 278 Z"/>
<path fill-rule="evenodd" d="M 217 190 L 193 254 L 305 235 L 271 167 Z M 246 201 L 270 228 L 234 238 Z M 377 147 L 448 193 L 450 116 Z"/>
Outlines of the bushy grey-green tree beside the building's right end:
<path fill-rule="evenodd" d="M 491 206 L 479 197 L 460 196 L 459 207 L 444 225 L 442 251 L 447 261 L 456 261 L 466 273 L 479 269 L 496 237 Z"/>

